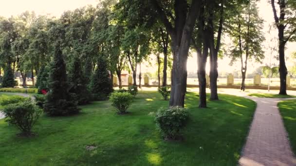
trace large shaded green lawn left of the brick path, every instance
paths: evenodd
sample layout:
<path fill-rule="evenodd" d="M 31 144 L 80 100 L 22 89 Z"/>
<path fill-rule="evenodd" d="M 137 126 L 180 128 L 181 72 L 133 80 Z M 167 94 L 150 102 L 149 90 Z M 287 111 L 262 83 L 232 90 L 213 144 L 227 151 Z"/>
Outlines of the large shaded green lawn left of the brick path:
<path fill-rule="evenodd" d="M 197 93 L 187 93 L 191 118 L 185 140 L 165 141 L 156 131 L 153 114 L 166 107 L 157 92 L 141 91 L 128 109 L 117 115 L 110 101 L 82 106 L 76 116 L 41 116 L 36 137 L 23 138 L 0 120 L 0 166 L 237 166 L 256 103 L 220 94 L 198 108 Z M 88 151 L 86 146 L 97 148 Z"/>

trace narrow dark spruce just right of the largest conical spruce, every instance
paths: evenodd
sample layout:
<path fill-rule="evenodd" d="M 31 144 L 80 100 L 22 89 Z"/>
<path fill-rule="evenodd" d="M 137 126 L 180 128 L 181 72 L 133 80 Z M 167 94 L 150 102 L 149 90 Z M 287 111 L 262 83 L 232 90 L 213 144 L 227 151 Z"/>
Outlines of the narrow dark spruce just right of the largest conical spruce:
<path fill-rule="evenodd" d="M 78 56 L 74 57 L 68 81 L 71 84 L 70 92 L 75 94 L 75 99 L 78 101 L 78 105 L 89 103 L 90 92 L 87 89 L 87 82 L 82 73 L 81 63 Z"/>

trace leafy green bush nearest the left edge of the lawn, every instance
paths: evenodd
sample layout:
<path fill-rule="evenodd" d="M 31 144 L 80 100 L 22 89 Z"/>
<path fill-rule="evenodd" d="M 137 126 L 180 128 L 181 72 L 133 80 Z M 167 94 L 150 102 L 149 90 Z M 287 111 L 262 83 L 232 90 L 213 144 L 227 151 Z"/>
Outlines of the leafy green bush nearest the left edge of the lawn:
<path fill-rule="evenodd" d="M 31 101 L 9 104 L 2 112 L 6 118 L 5 121 L 19 128 L 24 136 L 32 135 L 31 129 L 42 114 L 42 110 Z"/>

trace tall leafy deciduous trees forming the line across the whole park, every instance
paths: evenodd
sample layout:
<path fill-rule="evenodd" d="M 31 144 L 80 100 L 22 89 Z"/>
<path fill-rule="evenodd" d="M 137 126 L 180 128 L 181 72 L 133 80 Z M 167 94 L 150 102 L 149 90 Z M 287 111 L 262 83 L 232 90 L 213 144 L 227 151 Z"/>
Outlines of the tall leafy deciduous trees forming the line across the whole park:
<path fill-rule="evenodd" d="M 162 86 L 166 86 L 166 70 L 172 54 L 169 105 L 183 107 L 188 51 L 192 49 L 198 56 L 199 106 L 206 107 L 205 64 L 208 57 L 210 99 L 219 99 L 217 78 L 218 58 L 223 54 L 222 36 L 228 35 L 232 40 L 227 54 L 233 62 L 241 62 L 242 90 L 247 61 L 260 61 L 264 57 L 261 46 L 263 20 L 256 3 L 257 0 L 104 0 L 96 7 L 64 12 L 58 19 L 29 12 L 19 17 L 0 18 L 0 67 L 12 73 L 19 70 L 23 79 L 28 71 L 32 72 L 32 78 L 34 75 L 39 77 L 38 71 L 53 58 L 54 45 L 58 41 L 67 64 L 79 61 L 81 67 L 76 69 L 87 84 L 92 82 L 93 73 L 101 72 L 95 70 L 100 69 L 96 66 L 103 60 L 111 77 L 117 75 L 120 87 L 124 69 L 132 72 L 136 85 L 137 68 L 141 70 L 141 63 L 149 61 L 150 54 L 155 54 L 158 75 L 163 68 Z M 280 17 L 274 0 L 271 0 L 271 6 L 279 34 L 280 94 L 285 94 L 284 46 L 296 36 L 296 4 L 293 0 L 278 0 Z M 70 68 L 67 73 L 71 74 Z M 140 85 L 141 71 L 139 73 Z"/>

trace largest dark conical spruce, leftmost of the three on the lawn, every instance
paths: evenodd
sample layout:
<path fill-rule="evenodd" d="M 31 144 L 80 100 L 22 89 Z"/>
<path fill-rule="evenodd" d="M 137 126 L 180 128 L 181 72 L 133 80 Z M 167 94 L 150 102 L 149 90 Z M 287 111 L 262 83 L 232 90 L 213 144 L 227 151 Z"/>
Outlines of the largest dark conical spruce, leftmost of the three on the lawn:
<path fill-rule="evenodd" d="M 56 44 L 55 55 L 50 66 L 49 89 L 44 104 L 44 112 L 50 116 L 67 116 L 79 112 L 77 102 L 69 93 L 66 64 L 58 44 Z"/>

